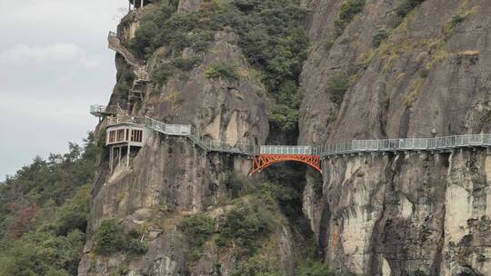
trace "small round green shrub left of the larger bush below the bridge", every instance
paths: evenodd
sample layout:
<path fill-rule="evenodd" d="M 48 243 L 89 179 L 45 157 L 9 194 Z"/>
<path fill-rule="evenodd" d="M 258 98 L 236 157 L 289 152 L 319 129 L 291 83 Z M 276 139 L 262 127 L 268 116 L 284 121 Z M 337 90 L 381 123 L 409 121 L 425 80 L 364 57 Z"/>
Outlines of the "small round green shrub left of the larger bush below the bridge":
<path fill-rule="evenodd" d="M 192 246 L 202 246 L 214 232 L 215 221 L 213 218 L 198 213 L 184 221 L 184 228 Z"/>

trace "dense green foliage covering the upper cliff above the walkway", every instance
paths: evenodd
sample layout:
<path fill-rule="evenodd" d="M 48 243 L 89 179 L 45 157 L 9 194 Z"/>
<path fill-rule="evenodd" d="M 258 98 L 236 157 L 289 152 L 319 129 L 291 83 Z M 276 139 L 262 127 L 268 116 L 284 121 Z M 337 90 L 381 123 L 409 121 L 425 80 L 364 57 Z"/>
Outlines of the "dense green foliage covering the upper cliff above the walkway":
<path fill-rule="evenodd" d="M 175 13 L 175 5 L 162 1 L 147 12 L 129 47 L 145 58 L 161 47 L 169 57 L 180 58 L 187 47 L 199 56 L 217 31 L 233 30 L 249 63 L 263 72 L 263 82 L 269 94 L 276 98 L 270 117 L 272 125 L 295 131 L 301 96 L 298 76 L 308 47 L 308 38 L 300 27 L 304 15 L 294 0 L 213 1 L 191 13 Z M 175 64 L 163 66 L 155 75 L 159 84 L 165 83 L 176 67 Z M 210 69 L 207 77 L 236 76 L 223 73 Z"/>

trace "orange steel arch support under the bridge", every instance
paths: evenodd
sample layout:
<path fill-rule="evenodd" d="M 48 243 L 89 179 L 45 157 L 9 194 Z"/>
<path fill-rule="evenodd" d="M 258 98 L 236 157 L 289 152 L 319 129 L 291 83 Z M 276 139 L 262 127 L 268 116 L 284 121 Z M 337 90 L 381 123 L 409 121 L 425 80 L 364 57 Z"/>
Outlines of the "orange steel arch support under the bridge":
<path fill-rule="evenodd" d="M 260 173 L 267 167 L 274 163 L 282 162 L 299 162 L 306 163 L 307 165 L 316 169 L 317 172 L 322 173 L 321 157 L 320 155 L 311 154 L 259 154 L 253 158 L 253 166 L 251 174 Z"/>

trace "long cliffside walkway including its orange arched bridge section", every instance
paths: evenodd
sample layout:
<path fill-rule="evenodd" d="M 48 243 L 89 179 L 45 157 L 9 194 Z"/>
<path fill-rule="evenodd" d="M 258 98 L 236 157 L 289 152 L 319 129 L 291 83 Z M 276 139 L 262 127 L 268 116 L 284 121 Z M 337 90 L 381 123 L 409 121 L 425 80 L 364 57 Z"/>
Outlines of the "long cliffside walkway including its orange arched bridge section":
<path fill-rule="evenodd" d="M 100 108 L 100 105 L 93 105 L 91 111 L 96 110 L 97 107 Z M 273 163 L 286 161 L 306 163 L 321 172 L 321 160 L 324 158 L 346 157 L 363 153 L 445 153 L 457 149 L 491 147 L 491 134 L 466 134 L 435 138 L 352 140 L 327 145 L 256 145 L 250 143 L 230 145 L 225 142 L 203 139 L 195 127 L 189 124 L 162 123 L 148 117 L 134 117 L 132 122 L 120 122 L 117 120 L 110 120 L 109 122 L 111 122 L 110 124 L 144 124 L 147 128 L 157 133 L 163 133 L 167 136 L 186 137 L 206 152 L 246 155 L 253 159 L 253 169 L 251 172 L 253 174 L 266 169 L 266 167 Z"/>

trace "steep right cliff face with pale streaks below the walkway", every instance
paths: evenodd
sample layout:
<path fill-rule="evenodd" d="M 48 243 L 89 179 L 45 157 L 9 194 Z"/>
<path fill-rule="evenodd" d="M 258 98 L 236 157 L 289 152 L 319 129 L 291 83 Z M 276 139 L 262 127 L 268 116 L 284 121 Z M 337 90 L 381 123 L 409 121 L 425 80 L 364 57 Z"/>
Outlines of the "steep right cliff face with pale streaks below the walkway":
<path fill-rule="evenodd" d="M 346 2 L 303 1 L 316 43 L 300 143 L 489 132 L 486 1 L 366 1 L 335 34 Z M 342 100 L 333 78 L 346 79 Z M 489 274 L 487 159 L 463 150 L 326 161 L 324 182 L 304 194 L 326 261 L 359 275 Z"/>

